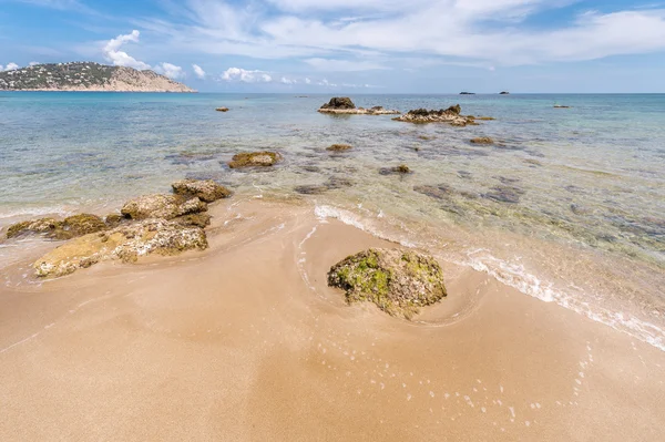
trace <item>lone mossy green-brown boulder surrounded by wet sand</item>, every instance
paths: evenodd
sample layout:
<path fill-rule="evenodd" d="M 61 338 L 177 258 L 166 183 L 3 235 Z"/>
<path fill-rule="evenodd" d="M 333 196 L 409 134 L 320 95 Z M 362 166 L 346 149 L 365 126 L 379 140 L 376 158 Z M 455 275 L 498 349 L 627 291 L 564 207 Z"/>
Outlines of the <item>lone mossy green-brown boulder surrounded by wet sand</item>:
<path fill-rule="evenodd" d="M 345 290 L 349 304 L 371 301 L 407 319 L 447 296 L 437 260 L 410 250 L 370 248 L 349 256 L 330 268 L 328 285 Z"/>

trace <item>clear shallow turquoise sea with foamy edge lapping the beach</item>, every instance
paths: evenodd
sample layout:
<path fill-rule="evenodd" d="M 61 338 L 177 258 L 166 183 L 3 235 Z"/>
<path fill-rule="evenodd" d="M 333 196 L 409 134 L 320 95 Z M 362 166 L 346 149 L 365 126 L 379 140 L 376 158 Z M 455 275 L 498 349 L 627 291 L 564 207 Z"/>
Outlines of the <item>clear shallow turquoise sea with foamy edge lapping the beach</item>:
<path fill-rule="evenodd" d="M 328 99 L 0 93 L 0 226 L 104 214 L 211 177 L 241 196 L 303 198 L 665 349 L 665 95 L 352 96 L 497 119 L 462 129 L 317 113 Z M 334 143 L 354 150 L 330 154 Z M 226 166 L 255 150 L 285 160 Z M 415 173 L 379 173 L 402 163 Z"/>

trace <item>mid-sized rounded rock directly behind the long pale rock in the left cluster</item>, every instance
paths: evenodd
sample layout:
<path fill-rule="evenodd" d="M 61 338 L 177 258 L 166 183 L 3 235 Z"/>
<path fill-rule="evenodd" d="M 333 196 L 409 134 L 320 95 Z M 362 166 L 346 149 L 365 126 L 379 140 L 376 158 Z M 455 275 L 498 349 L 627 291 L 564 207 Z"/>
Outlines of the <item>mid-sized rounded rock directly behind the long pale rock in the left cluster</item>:
<path fill-rule="evenodd" d="M 195 196 L 156 194 L 143 195 L 126 202 L 120 213 L 132 219 L 172 219 L 205 210 L 207 210 L 207 204 Z"/>

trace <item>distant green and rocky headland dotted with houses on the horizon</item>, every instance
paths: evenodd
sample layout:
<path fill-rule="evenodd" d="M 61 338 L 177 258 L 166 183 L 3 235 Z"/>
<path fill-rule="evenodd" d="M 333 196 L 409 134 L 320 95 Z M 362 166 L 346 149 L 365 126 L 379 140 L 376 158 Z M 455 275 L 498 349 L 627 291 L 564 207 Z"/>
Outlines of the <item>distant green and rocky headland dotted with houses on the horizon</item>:
<path fill-rule="evenodd" d="M 35 64 L 0 72 L 0 91 L 196 92 L 150 70 L 93 62 Z"/>

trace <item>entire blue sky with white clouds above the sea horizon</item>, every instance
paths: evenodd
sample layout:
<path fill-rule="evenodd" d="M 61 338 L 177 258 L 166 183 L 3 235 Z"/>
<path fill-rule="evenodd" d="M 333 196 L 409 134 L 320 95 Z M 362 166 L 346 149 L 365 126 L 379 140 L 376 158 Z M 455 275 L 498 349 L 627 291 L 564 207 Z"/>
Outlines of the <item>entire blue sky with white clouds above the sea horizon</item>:
<path fill-rule="evenodd" d="M 665 1 L 0 0 L 0 70 L 95 61 L 202 92 L 665 92 Z"/>

